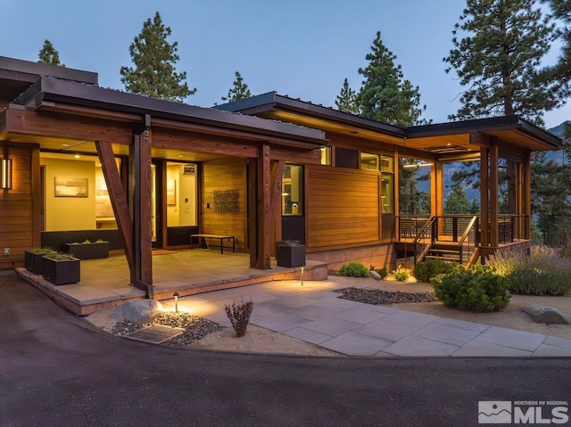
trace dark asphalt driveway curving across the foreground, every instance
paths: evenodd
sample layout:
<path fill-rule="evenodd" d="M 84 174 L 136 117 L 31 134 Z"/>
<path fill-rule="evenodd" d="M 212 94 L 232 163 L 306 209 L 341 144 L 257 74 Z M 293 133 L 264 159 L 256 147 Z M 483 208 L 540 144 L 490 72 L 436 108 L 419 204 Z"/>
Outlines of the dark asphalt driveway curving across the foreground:
<path fill-rule="evenodd" d="M 280 357 L 97 331 L 0 275 L 0 425 L 478 424 L 478 400 L 571 400 L 569 358 Z"/>

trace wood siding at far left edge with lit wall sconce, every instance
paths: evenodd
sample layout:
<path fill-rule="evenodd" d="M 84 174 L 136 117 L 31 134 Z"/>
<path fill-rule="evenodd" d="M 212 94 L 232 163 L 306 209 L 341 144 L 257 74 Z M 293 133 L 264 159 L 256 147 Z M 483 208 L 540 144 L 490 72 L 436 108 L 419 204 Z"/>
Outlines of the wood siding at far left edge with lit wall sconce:
<path fill-rule="evenodd" d="M 34 149 L 0 145 L 0 150 L 4 152 L 4 157 L 7 155 L 12 159 L 12 189 L 0 190 L 0 250 L 10 248 L 8 256 L 0 252 L 0 269 L 5 269 L 23 266 L 24 250 L 31 249 L 34 244 Z"/>

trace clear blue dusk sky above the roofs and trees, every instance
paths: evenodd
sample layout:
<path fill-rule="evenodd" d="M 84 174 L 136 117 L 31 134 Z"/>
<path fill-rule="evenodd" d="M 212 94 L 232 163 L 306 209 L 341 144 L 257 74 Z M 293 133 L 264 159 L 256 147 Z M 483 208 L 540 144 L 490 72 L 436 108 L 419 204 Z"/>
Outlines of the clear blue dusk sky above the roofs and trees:
<path fill-rule="evenodd" d="M 177 71 L 196 94 L 186 103 L 211 107 L 239 71 L 252 91 L 335 107 L 348 78 L 381 31 L 404 78 L 419 86 L 426 119 L 448 121 L 459 109 L 455 73 L 446 74 L 451 31 L 464 0 L 0 0 L 0 56 L 37 61 L 49 39 L 68 68 L 95 71 L 99 86 L 124 89 L 120 67 L 143 23 L 161 13 L 178 42 Z M 550 51 L 554 62 L 559 51 Z M 547 128 L 571 119 L 571 105 L 544 116 Z"/>

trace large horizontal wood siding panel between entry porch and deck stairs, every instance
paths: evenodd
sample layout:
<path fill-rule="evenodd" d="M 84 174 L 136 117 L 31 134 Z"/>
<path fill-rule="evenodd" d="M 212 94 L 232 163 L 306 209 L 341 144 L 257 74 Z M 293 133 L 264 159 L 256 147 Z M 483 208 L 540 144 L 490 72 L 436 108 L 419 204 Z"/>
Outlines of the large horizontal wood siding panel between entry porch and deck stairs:
<path fill-rule="evenodd" d="M 307 168 L 308 250 L 380 242 L 380 175 L 342 168 Z"/>

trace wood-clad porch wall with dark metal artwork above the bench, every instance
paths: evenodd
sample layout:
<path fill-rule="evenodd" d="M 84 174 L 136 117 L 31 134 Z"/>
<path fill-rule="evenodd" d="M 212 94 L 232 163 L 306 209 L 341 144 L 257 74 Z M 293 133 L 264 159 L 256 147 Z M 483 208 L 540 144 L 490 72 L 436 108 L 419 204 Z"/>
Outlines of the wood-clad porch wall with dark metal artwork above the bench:
<path fill-rule="evenodd" d="M 203 163 L 203 201 L 201 233 L 236 237 L 236 249 L 246 244 L 246 160 L 228 158 Z M 238 212 L 219 214 L 214 211 L 214 190 L 238 191 Z M 213 241 L 216 242 L 216 241 Z M 228 242 L 226 242 L 228 244 Z"/>

